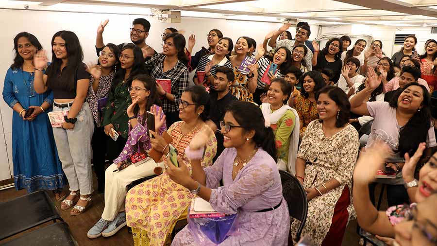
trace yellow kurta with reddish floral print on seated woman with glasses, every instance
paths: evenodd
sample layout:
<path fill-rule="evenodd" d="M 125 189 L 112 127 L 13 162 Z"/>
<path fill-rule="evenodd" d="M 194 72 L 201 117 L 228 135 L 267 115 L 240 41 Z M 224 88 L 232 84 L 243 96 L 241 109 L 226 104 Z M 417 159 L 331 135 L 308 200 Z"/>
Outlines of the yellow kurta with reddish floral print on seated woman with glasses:
<path fill-rule="evenodd" d="M 181 121 L 172 124 L 168 133 L 173 139 L 172 145 L 176 147 L 178 155 L 191 169 L 185 156 L 185 148 L 197 133 L 208 126 L 205 124 L 183 136 L 181 133 L 183 123 Z M 210 134 L 210 136 L 202 159 L 202 167 L 211 166 L 212 158 L 217 152 L 215 135 Z M 126 196 L 126 220 L 127 225 L 133 228 L 135 246 L 163 246 L 176 221 L 186 211 L 193 197 L 194 194 L 191 194 L 188 189 L 171 180 L 166 171 L 160 176 L 134 186 Z"/>

